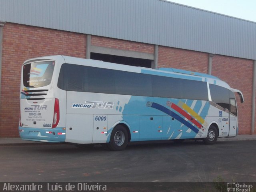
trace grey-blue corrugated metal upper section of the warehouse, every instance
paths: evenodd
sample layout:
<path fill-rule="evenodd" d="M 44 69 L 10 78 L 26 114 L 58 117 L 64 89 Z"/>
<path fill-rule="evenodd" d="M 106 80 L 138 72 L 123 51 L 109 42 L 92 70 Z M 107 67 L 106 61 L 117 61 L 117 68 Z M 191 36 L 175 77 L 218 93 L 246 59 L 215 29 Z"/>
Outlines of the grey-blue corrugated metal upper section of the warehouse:
<path fill-rule="evenodd" d="M 164 0 L 0 0 L 0 20 L 256 60 L 256 23 Z"/>

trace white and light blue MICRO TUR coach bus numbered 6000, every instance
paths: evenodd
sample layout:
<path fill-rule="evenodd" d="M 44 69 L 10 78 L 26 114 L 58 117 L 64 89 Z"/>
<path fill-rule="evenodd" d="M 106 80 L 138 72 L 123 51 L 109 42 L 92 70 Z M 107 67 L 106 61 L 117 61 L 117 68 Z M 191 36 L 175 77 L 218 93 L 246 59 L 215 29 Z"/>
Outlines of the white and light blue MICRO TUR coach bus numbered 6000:
<path fill-rule="evenodd" d="M 238 133 L 234 93 L 215 76 L 143 68 L 70 56 L 22 65 L 19 133 L 23 140 L 106 143 L 200 139 Z"/>

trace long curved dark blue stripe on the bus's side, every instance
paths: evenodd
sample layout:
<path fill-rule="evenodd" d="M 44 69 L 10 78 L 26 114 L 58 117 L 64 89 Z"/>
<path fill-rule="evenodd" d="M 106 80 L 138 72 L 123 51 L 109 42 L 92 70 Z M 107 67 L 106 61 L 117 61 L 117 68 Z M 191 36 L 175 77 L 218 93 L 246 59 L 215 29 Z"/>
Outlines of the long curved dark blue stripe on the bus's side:
<path fill-rule="evenodd" d="M 190 128 L 192 131 L 194 131 L 196 134 L 198 133 L 199 130 L 197 128 L 195 128 L 192 124 L 190 124 L 189 122 L 187 122 L 182 117 L 180 117 L 178 114 L 174 113 L 173 111 L 169 110 L 168 108 L 166 108 L 160 104 L 154 103 L 154 102 L 152 102 L 152 103 L 150 102 L 150 105 L 147 104 L 147 106 L 150 106 L 152 108 L 160 110 L 160 111 L 168 114 L 169 116 L 175 118 L 176 120 L 178 120 L 179 122 L 181 122 L 182 124 L 184 124 L 185 126 Z"/>

